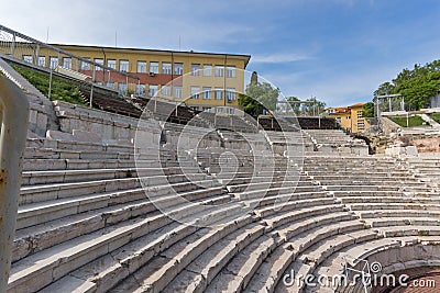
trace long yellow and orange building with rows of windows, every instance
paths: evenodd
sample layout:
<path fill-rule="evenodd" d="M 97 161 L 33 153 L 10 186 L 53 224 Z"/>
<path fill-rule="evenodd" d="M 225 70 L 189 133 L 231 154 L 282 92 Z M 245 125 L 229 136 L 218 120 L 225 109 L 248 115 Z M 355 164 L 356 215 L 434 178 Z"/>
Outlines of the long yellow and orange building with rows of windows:
<path fill-rule="evenodd" d="M 138 76 L 131 91 L 145 97 L 161 95 L 185 100 L 193 110 L 211 106 L 238 106 L 238 93 L 244 91 L 244 69 L 250 55 L 175 52 L 142 48 L 98 47 L 53 44 L 68 53 L 120 71 Z M 57 60 L 64 66 L 65 60 Z M 51 61 L 47 61 L 51 63 Z M 90 70 L 90 68 L 82 68 Z M 87 70 L 81 70 L 85 74 Z M 99 72 L 95 72 L 99 80 Z M 106 82 L 103 78 L 103 82 Z M 120 91 L 123 81 L 112 82 Z"/>

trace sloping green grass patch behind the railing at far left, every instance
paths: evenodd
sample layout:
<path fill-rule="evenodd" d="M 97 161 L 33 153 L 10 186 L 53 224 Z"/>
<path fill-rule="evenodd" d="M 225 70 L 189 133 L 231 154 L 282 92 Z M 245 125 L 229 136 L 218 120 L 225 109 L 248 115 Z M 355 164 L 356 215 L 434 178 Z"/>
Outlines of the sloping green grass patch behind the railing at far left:
<path fill-rule="evenodd" d="M 48 97 L 50 75 L 30 68 L 12 65 L 12 67 L 29 82 L 32 83 L 45 97 Z M 81 92 L 74 81 L 69 81 L 56 76 L 52 77 L 51 100 L 65 101 L 73 104 L 85 105 Z"/>

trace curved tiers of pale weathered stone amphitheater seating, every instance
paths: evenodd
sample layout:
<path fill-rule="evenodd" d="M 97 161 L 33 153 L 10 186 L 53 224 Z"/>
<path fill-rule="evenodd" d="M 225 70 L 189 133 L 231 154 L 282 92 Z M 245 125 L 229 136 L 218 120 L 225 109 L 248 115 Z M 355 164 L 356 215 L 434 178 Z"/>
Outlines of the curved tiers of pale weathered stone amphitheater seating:
<path fill-rule="evenodd" d="M 290 270 L 340 273 L 346 258 L 440 239 L 435 159 L 426 170 L 421 159 L 314 151 L 358 142 L 272 122 L 265 134 L 165 129 L 165 145 L 136 148 L 28 139 L 8 292 L 289 292 Z"/>

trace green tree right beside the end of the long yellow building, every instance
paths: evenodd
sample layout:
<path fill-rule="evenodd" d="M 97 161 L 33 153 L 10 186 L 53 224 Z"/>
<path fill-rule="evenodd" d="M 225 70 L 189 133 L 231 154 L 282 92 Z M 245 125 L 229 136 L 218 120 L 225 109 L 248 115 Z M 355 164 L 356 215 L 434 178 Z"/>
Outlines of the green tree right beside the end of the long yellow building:
<path fill-rule="evenodd" d="M 256 116 L 262 114 L 263 110 L 276 110 L 278 95 L 279 89 L 274 89 L 268 82 L 258 82 L 257 74 L 254 71 L 245 94 L 239 94 L 239 104 L 244 112 Z"/>

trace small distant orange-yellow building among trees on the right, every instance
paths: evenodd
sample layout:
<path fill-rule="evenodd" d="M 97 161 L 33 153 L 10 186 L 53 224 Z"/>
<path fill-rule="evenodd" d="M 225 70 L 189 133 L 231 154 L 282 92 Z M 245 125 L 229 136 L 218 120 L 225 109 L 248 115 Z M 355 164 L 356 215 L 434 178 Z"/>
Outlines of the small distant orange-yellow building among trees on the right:
<path fill-rule="evenodd" d="M 334 117 L 338 123 L 352 133 L 366 132 L 370 128 L 369 121 L 363 116 L 364 103 L 350 106 L 328 108 L 326 112 Z"/>

